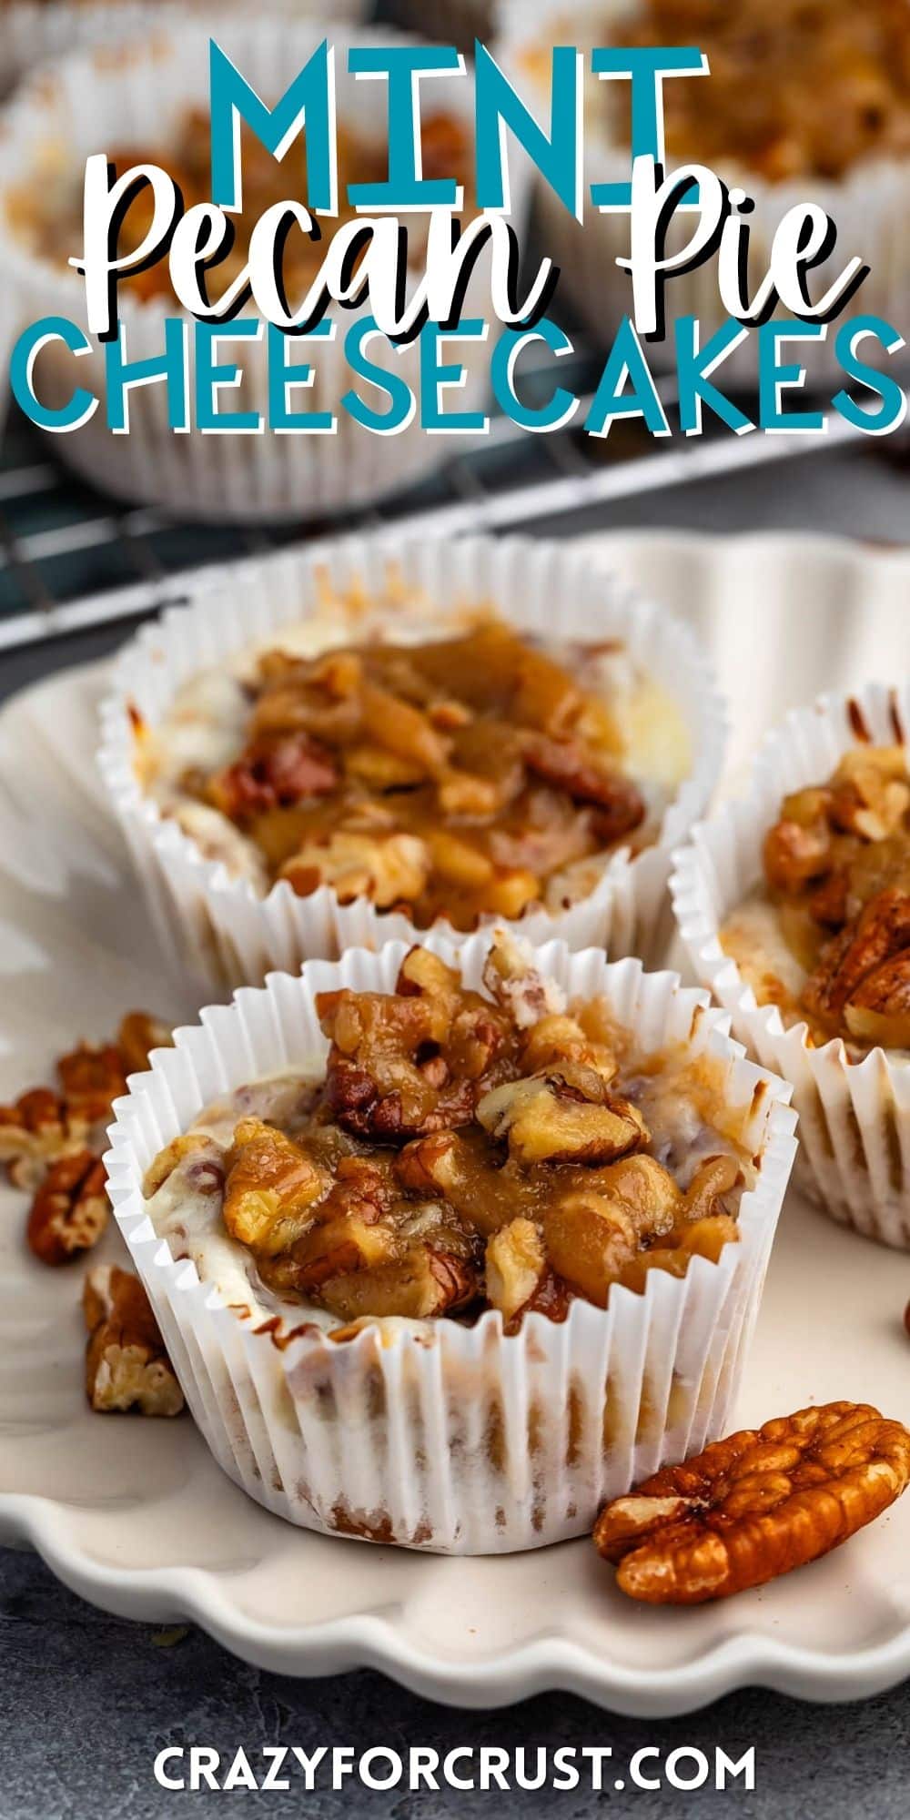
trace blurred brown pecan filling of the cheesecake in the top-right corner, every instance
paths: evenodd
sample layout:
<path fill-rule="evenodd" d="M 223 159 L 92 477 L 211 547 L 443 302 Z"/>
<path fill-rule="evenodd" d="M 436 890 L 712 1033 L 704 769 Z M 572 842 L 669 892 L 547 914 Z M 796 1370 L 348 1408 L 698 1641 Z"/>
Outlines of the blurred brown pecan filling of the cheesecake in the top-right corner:
<path fill-rule="evenodd" d="M 664 82 L 675 162 L 735 158 L 774 184 L 910 151 L 905 0 L 641 0 L 615 42 L 708 55 L 710 76 Z"/>

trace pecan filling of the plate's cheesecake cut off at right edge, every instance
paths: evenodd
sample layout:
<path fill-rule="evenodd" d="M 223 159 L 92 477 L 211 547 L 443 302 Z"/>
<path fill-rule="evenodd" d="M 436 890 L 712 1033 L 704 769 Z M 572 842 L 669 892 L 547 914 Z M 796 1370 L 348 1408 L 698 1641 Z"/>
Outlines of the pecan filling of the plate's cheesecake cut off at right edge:
<path fill-rule="evenodd" d="M 763 863 L 784 965 L 761 939 L 761 899 L 721 932 L 759 1003 L 804 1017 L 815 1041 L 910 1048 L 906 748 L 857 744 L 826 783 L 788 795 Z"/>

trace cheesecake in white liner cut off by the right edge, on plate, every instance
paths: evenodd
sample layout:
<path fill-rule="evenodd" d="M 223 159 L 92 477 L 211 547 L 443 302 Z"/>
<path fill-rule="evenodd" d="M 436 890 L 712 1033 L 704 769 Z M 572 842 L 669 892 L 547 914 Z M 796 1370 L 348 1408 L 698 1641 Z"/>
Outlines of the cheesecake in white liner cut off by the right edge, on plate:
<path fill-rule="evenodd" d="M 799 1179 L 910 1245 L 910 697 L 823 697 L 677 855 L 677 923 L 733 1034 L 794 1083 Z"/>

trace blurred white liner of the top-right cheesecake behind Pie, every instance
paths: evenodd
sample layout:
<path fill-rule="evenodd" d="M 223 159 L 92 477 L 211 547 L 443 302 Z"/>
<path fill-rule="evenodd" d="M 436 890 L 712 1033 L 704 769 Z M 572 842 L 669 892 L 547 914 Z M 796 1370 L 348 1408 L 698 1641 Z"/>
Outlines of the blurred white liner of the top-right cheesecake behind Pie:
<path fill-rule="evenodd" d="M 548 184 L 537 180 L 535 207 L 542 249 L 561 268 L 559 289 L 579 309 L 582 320 L 602 342 L 617 331 L 624 315 L 632 315 L 632 278 L 621 271 L 617 258 L 628 258 L 628 215 L 601 215 L 590 200 L 592 182 L 628 184 L 632 175 L 630 149 L 619 146 L 610 129 L 610 89 L 590 75 L 590 49 L 612 42 L 617 27 L 641 11 L 641 0 L 500 0 L 497 55 L 510 71 L 524 98 L 542 98 L 541 82 L 530 67 L 533 53 L 542 51 L 550 71 L 553 44 L 575 44 L 586 53 L 586 115 L 584 115 L 584 222 L 579 224 L 559 202 Z M 619 35 L 619 42 L 622 36 Z M 682 78 L 686 80 L 686 78 Z M 692 78 L 710 82 L 712 76 Z M 761 82 L 761 71 L 755 71 Z M 592 86 L 602 89 L 592 100 Z M 522 160 L 524 162 L 524 160 Z M 519 160 L 515 160 L 519 166 Z M 910 284 L 910 160 L 868 160 L 855 166 L 843 180 L 799 177 L 792 182 L 770 184 L 755 171 L 715 164 L 717 175 L 730 186 L 741 184 L 755 200 L 752 217 L 753 271 L 764 275 L 774 233 L 788 209 L 803 202 L 817 202 L 837 226 L 837 246 L 832 257 L 812 275 L 814 295 L 821 297 L 843 266 L 859 255 L 870 266 L 852 306 L 855 313 L 874 313 L 897 328 L 905 320 Z M 688 226 L 673 224 L 668 253 L 688 238 Z M 673 242 L 673 235 L 679 238 Z M 717 264 L 708 260 L 697 271 L 673 275 L 666 286 L 666 339 L 644 344 L 655 371 L 675 364 L 673 322 L 677 317 L 697 317 L 701 344 L 726 322 L 726 311 L 717 291 Z M 794 362 L 806 368 L 806 386 L 812 389 L 832 377 L 843 377 L 834 355 L 839 320 L 832 322 L 826 339 L 799 340 L 792 349 Z M 872 340 L 863 344 L 868 364 L 894 364 Z M 726 384 L 757 384 L 757 337 L 750 331 L 746 342 L 735 348 L 715 373 L 721 389 Z"/>

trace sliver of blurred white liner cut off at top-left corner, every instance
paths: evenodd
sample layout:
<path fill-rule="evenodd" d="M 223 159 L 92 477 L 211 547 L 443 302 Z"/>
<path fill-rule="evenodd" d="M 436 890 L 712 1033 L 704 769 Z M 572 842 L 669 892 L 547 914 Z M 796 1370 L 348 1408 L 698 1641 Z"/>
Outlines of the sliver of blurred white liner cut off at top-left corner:
<path fill-rule="evenodd" d="M 211 13 L 218 22 L 226 13 L 240 11 L 246 0 L 7 0 L 0 5 L 0 95 L 18 82 L 35 64 L 44 64 L 64 51 L 86 44 L 113 44 L 142 36 L 162 20 L 186 18 L 187 13 Z M 269 13 L 306 18 L 318 13 L 320 0 L 268 0 Z M 369 0 L 339 0 L 333 18 L 360 20 L 369 11 Z"/>

